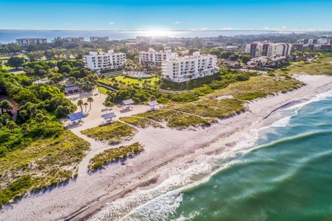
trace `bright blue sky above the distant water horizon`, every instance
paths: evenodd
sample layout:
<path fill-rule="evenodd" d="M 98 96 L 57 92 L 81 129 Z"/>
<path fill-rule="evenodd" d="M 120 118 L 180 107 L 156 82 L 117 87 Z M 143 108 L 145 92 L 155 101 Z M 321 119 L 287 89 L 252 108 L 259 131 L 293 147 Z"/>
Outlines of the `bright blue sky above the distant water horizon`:
<path fill-rule="evenodd" d="M 0 29 L 332 30 L 332 0 L 0 0 Z"/>

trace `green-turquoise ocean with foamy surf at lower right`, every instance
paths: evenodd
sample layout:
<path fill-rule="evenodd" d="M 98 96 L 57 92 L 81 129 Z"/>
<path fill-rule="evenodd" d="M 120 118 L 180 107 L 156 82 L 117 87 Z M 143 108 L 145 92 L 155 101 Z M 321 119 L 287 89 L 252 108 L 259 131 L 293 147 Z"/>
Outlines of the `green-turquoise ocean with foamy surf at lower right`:
<path fill-rule="evenodd" d="M 332 90 L 274 115 L 91 220 L 332 220 Z"/>

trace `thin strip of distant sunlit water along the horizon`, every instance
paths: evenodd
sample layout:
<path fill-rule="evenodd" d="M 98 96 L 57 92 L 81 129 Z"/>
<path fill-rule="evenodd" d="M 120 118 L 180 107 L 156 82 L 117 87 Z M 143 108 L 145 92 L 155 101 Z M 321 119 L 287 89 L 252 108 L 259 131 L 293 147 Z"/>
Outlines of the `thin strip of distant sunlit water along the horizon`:
<path fill-rule="evenodd" d="M 235 35 L 259 35 L 273 31 L 264 30 L 187 30 L 187 31 L 112 31 L 112 30 L 0 30 L 0 43 L 7 44 L 18 38 L 39 37 L 52 41 L 55 37 L 89 37 L 108 36 L 109 39 L 136 39 L 136 36 L 168 36 L 168 37 L 217 37 Z"/>

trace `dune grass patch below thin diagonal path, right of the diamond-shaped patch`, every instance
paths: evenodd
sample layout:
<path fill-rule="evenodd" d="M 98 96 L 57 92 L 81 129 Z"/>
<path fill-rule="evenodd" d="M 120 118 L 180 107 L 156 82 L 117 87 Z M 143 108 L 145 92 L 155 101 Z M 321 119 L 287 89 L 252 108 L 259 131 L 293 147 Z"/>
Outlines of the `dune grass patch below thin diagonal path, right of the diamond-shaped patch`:
<path fill-rule="evenodd" d="M 156 122 L 167 122 L 167 126 L 178 130 L 193 126 L 210 126 L 212 123 L 212 119 L 205 119 L 196 115 L 190 115 L 169 109 L 140 113 L 137 116 L 147 117 L 148 119 L 153 119 Z"/>

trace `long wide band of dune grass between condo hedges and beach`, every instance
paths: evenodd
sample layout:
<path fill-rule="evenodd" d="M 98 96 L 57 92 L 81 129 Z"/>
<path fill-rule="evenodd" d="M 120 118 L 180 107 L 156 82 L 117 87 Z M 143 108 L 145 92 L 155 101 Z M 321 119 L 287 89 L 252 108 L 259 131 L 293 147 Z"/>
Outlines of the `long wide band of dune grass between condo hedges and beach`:
<path fill-rule="evenodd" d="M 286 93 L 304 83 L 286 77 L 254 76 L 246 81 L 237 81 L 226 88 L 214 90 L 208 97 L 183 104 L 169 104 L 158 111 L 140 113 L 136 116 L 166 122 L 167 126 L 182 130 L 196 126 L 208 126 L 217 118 L 225 118 L 246 111 L 245 103 L 252 99 Z M 231 95 L 233 98 L 218 99 Z"/>

